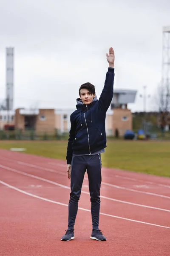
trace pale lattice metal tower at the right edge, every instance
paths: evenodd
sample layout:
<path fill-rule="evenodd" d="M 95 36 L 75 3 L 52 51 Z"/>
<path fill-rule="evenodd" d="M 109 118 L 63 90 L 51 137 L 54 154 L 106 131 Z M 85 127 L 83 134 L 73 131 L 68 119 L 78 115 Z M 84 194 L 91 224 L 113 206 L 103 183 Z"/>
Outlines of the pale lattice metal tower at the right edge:
<path fill-rule="evenodd" d="M 162 97 L 160 101 L 161 110 L 166 112 L 170 107 L 170 26 L 163 27 L 162 41 Z"/>

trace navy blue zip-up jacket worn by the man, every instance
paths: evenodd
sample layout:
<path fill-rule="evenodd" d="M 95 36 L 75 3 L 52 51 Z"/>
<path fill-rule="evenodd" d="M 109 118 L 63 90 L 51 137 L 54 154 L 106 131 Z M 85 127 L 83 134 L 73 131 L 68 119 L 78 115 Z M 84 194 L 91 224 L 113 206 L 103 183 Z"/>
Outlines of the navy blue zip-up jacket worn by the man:
<path fill-rule="evenodd" d="M 67 164 L 71 164 L 73 154 L 95 153 L 106 148 L 105 118 L 113 98 L 114 69 L 109 67 L 105 86 L 99 100 L 82 104 L 77 99 L 77 110 L 71 114 L 71 129 L 67 147 Z"/>

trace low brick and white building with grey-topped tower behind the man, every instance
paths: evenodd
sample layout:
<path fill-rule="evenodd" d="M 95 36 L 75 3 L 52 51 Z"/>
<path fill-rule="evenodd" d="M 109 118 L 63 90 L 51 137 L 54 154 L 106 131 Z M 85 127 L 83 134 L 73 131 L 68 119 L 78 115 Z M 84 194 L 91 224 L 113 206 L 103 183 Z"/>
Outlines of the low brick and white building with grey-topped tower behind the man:
<path fill-rule="evenodd" d="M 115 135 L 116 129 L 122 136 L 127 129 L 132 129 L 132 113 L 127 108 L 128 103 L 135 101 L 135 90 L 114 90 L 111 106 L 106 113 L 106 134 Z M 0 111 L 0 128 L 4 125 L 14 125 L 15 128 L 25 131 L 33 128 L 35 131 L 60 133 L 69 132 L 70 115 L 75 109 L 26 109 L 18 108 L 15 111 Z"/>

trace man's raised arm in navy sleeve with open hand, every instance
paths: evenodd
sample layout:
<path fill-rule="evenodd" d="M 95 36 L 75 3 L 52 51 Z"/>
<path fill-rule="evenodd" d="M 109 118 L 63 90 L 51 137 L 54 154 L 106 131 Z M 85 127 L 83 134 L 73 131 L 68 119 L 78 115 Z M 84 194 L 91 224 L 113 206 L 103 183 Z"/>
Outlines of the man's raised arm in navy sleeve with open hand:
<path fill-rule="evenodd" d="M 107 61 L 109 63 L 108 72 L 106 73 L 105 86 L 99 98 L 99 108 L 102 111 L 107 111 L 111 105 L 113 98 L 113 83 L 114 83 L 114 50 L 111 47 L 109 54 L 106 54 Z"/>

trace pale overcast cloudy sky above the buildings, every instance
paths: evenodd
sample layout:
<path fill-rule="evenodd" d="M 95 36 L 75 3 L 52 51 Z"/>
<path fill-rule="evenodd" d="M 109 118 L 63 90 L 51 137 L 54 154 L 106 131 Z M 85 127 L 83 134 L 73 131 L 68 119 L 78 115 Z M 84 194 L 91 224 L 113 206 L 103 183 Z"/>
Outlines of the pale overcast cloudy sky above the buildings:
<path fill-rule="evenodd" d="M 161 80 L 162 27 L 169 0 L 0 1 L 0 99 L 6 97 L 6 47 L 14 47 L 14 108 L 75 108 L 87 81 L 100 95 L 115 50 L 115 88 L 138 90 L 132 111 L 147 110 Z M 153 104 L 153 105 L 152 105 Z"/>

